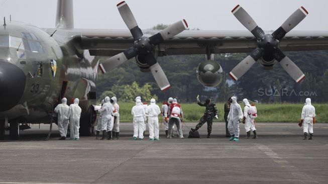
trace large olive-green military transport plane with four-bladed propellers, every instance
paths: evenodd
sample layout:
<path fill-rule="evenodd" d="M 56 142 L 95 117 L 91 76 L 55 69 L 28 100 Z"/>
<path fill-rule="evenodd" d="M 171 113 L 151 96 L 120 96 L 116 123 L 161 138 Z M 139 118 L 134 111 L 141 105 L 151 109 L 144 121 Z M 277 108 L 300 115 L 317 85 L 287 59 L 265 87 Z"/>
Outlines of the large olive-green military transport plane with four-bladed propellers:
<path fill-rule="evenodd" d="M 6 129 L 12 139 L 18 139 L 20 124 L 48 123 L 49 113 L 63 97 L 68 104 L 74 98 L 80 99 L 80 133 L 91 135 L 96 120 L 91 104 L 96 103 L 98 68 L 110 72 L 133 57 L 140 70 L 152 72 L 159 87 L 165 90 L 170 84 L 156 61 L 159 56 L 206 54 L 207 61 L 201 62 L 205 64 L 198 69 L 207 74 L 198 77 L 211 85 L 214 80 L 210 73 L 215 68 L 211 65 L 218 66 L 215 71 L 222 71 L 213 61 L 214 53 L 251 52 L 230 72 L 234 79 L 260 59 L 264 67 L 272 67 L 277 60 L 297 81 L 303 77 L 301 71 L 280 49 L 328 49 L 328 32 L 289 32 L 306 16 L 304 8 L 292 14 L 272 35 L 265 35 L 240 6 L 232 12 L 251 33 L 185 30 L 185 20 L 161 31 L 141 30 L 126 2 L 119 3 L 117 8 L 129 30 L 74 29 L 72 0 L 58 0 L 55 28 L 4 21 L 0 27 L 0 139 Z M 98 56 L 113 57 L 99 64 Z"/>

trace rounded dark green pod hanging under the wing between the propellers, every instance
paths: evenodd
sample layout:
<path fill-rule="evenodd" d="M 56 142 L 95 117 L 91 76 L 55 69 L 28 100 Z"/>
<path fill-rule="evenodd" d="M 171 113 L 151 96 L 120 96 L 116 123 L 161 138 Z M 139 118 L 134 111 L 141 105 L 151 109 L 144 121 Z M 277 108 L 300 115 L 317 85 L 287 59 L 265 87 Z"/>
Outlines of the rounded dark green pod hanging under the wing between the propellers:
<path fill-rule="evenodd" d="M 207 60 L 199 63 L 196 76 L 198 81 L 209 87 L 215 87 L 223 80 L 223 69 L 217 62 L 213 60 Z"/>

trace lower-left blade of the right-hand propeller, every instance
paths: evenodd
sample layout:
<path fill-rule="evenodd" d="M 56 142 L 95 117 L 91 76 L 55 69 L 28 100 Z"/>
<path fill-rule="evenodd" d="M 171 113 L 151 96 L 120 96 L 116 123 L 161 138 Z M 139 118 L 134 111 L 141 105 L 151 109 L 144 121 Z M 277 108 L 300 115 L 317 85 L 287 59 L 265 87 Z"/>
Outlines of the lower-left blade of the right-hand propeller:
<path fill-rule="evenodd" d="M 254 49 L 250 55 L 248 55 L 245 59 L 238 63 L 233 70 L 231 70 L 229 73 L 230 77 L 233 80 L 238 80 L 253 66 L 258 59 L 260 59 L 262 55 L 263 51 L 260 48 Z"/>

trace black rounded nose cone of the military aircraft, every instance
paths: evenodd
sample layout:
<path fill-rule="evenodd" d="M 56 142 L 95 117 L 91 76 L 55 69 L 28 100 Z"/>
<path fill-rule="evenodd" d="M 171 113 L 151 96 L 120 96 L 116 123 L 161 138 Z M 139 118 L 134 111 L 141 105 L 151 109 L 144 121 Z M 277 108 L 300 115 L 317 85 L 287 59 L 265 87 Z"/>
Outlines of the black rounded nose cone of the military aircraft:
<path fill-rule="evenodd" d="M 7 111 L 21 100 L 26 76 L 16 65 L 0 61 L 0 112 Z"/>

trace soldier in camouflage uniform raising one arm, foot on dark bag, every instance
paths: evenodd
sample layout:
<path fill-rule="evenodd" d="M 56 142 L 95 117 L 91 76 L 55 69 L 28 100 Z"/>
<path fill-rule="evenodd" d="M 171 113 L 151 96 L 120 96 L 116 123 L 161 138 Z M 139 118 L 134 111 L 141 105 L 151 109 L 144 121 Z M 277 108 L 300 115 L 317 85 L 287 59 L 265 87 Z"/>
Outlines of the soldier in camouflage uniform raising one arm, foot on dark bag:
<path fill-rule="evenodd" d="M 196 131 L 198 130 L 205 122 L 207 122 L 207 138 L 210 137 L 210 133 L 212 131 L 212 122 L 213 122 L 213 117 L 215 117 L 216 119 L 218 118 L 217 117 L 217 110 L 216 110 L 216 106 L 215 104 L 212 104 L 211 103 L 211 100 L 210 99 L 206 99 L 205 101 L 205 104 L 202 104 L 198 97 L 197 97 L 197 103 L 199 106 L 203 106 L 203 107 L 206 107 L 206 110 L 205 110 L 205 113 L 204 113 L 204 116 L 202 116 L 199 120 L 199 123 L 196 125 L 196 128 L 195 129 L 191 129 L 191 131 Z"/>

